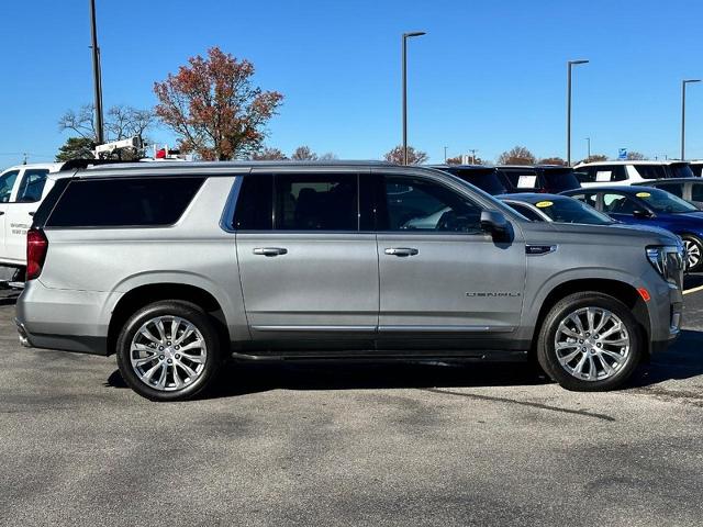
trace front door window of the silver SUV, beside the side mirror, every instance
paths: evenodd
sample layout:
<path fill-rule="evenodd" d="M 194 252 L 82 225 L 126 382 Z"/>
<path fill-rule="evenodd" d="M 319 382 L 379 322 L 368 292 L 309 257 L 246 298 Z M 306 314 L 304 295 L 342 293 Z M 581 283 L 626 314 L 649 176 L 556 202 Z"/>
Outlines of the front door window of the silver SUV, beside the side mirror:
<path fill-rule="evenodd" d="M 481 209 L 433 181 L 386 176 L 378 204 L 378 228 L 397 232 L 482 234 Z"/>

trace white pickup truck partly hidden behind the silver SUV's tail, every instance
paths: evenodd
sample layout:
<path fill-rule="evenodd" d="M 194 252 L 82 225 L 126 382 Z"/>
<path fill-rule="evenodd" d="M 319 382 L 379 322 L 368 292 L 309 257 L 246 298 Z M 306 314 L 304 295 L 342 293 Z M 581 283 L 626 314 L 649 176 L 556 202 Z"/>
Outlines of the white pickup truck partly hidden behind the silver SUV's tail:
<path fill-rule="evenodd" d="M 26 231 L 32 216 L 54 186 L 47 176 L 63 166 L 63 162 L 18 165 L 0 172 L 0 267 L 18 270 L 14 280 L 23 280 Z"/>

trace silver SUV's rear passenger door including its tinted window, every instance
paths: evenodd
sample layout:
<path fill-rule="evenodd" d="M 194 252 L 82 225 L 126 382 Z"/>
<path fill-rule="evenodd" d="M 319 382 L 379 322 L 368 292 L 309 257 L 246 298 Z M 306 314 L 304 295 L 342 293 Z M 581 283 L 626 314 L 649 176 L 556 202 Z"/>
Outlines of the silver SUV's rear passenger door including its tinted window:
<path fill-rule="evenodd" d="M 375 234 L 359 222 L 357 173 L 244 176 L 235 228 L 255 344 L 372 347 L 378 255 Z"/>

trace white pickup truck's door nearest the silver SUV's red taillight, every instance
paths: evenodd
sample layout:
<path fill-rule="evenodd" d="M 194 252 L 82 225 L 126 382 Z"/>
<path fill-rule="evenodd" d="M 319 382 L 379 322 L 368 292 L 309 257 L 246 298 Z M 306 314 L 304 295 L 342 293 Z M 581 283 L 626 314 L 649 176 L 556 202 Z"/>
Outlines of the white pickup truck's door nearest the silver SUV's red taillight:
<path fill-rule="evenodd" d="M 27 168 L 20 175 L 5 213 L 5 254 L 10 260 L 23 264 L 26 260 L 26 232 L 42 201 L 47 175 L 46 168 Z"/>

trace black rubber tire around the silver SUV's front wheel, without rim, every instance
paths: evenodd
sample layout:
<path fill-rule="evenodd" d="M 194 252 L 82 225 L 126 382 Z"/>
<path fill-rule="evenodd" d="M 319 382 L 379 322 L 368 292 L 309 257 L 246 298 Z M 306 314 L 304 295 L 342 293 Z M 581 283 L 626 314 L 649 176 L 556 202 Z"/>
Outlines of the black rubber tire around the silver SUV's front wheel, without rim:
<path fill-rule="evenodd" d="M 555 345 L 555 337 L 561 321 L 563 321 L 570 314 L 578 312 L 581 309 L 595 307 L 596 310 L 607 310 L 625 326 L 627 336 L 629 338 L 629 351 L 622 363 L 616 368 L 611 377 L 604 379 L 580 379 L 574 374 L 567 371 L 566 367 L 562 367 L 557 357 L 557 350 Z M 580 340 L 579 340 L 580 341 Z M 587 344 L 588 345 L 588 344 Z M 614 299 L 604 293 L 594 291 L 587 291 L 581 293 L 574 293 L 556 303 L 556 305 L 549 311 L 545 317 L 542 328 L 539 330 L 539 337 L 537 340 L 537 360 L 539 366 L 545 372 L 562 388 L 567 390 L 580 391 L 580 392 L 594 392 L 594 391 L 607 391 L 620 388 L 632 375 L 637 365 L 640 362 L 641 357 L 645 354 L 644 350 L 645 339 L 641 335 L 641 328 L 633 316 L 631 310 L 621 301 Z M 593 344 L 593 348 L 595 344 Z M 574 350 L 577 348 L 573 348 Z M 585 347 L 578 348 L 584 350 L 582 354 L 588 355 Z M 566 354 L 566 352 L 565 352 Z M 573 360 L 578 360 L 583 355 L 577 356 Z M 588 358 L 588 357 L 587 357 Z M 600 357 L 594 359 L 596 365 L 600 365 L 604 370 L 603 363 Z M 613 362 L 609 362 L 612 366 Z M 584 363 L 585 366 L 585 363 Z M 600 372 L 599 372 L 600 374 Z"/>

